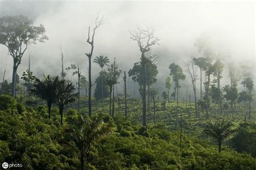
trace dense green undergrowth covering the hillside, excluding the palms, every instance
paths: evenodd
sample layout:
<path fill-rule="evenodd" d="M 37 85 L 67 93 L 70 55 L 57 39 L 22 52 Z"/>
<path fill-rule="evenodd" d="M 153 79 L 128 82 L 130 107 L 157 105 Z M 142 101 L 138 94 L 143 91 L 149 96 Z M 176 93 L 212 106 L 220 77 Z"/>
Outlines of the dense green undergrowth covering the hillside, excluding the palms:
<path fill-rule="evenodd" d="M 197 118 L 193 105 L 180 103 L 179 106 L 179 113 L 183 113 L 180 148 L 176 103 L 167 104 L 163 110 L 159 102 L 157 124 L 153 124 L 151 111 L 147 114 L 148 126 L 144 127 L 140 125 L 139 102 L 129 100 L 128 118 L 123 116 L 123 105 L 118 114 L 116 104 L 114 118 L 108 115 L 107 103 L 104 112 L 102 105 L 98 104 L 97 108 L 94 105 L 93 115 L 104 114 L 103 120 L 112 126 L 112 133 L 93 142 L 86 169 L 256 169 L 256 125 L 253 121 L 244 122 L 240 106 L 233 118 L 233 128 L 237 131 L 225 140 L 223 150 L 218 153 L 216 142 L 203 133 L 208 119 L 204 115 Z M 50 120 L 44 105 L 20 104 L 12 109 L 13 115 L 10 106 L 1 111 L 0 162 L 22 164 L 25 169 L 79 169 L 77 149 L 65 142 L 69 135 L 65 128 L 71 126 L 68 120 L 78 117 L 76 106 L 71 107 L 65 112 L 63 126 L 57 108 L 52 109 Z M 85 110 L 80 114 L 86 114 Z M 222 116 L 230 117 L 226 113 Z M 212 111 L 210 119 L 217 116 Z"/>

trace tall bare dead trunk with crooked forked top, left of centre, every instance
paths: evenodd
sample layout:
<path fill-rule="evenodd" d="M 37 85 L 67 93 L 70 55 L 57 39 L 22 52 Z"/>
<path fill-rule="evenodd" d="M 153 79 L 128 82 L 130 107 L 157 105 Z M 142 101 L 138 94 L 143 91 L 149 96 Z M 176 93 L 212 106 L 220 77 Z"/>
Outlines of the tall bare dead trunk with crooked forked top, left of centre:
<path fill-rule="evenodd" d="M 87 38 L 87 43 L 89 43 L 91 45 L 91 51 L 89 53 L 85 53 L 85 55 L 88 57 L 89 59 L 89 98 L 88 98 L 88 113 L 89 116 L 91 116 L 91 88 L 92 88 L 92 80 L 91 80 L 91 58 L 92 58 L 92 53 L 93 53 L 93 49 L 94 49 L 94 36 L 95 36 L 95 32 L 96 29 L 103 24 L 103 19 L 104 16 L 102 18 L 99 19 L 99 15 L 97 15 L 96 19 L 95 19 L 95 28 L 93 28 L 93 32 L 92 32 L 92 37 L 90 38 L 90 26 L 88 29 L 88 38 Z"/>

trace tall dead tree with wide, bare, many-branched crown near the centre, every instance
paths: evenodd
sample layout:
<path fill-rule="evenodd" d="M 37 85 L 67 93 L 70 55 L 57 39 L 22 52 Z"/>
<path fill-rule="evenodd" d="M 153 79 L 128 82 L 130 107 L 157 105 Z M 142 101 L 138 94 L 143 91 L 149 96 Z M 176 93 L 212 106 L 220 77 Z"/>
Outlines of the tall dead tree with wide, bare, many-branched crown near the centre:
<path fill-rule="evenodd" d="M 142 105 L 143 105 L 143 126 L 146 126 L 146 56 L 145 53 L 151 50 L 152 45 L 159 44 L 159 38 L 154 36 L 154 29 L 147 27 L 146 30 L 140 29 L 139 26 L 135 31 L 130 31 L 131 39 L 136 41 L 139 50 L 142 53 L 141 55 L 141 63 L 142 63 Z"/>

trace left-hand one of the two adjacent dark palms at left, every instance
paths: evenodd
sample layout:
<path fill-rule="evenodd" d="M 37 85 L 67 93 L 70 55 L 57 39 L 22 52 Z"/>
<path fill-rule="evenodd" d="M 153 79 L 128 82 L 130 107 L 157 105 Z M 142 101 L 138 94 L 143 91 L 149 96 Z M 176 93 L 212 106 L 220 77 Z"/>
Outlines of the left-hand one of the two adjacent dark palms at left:
<path fill-rule="evenodd" d="M 58 84 L 58 81 L 58 76 L 44 76 L 43 80 L 36 78 L 35 83 L 33 84 L 33 88 L 30 89 L 31 95 L 46 100 L 49 119 L 51 117 L 51 106 L 53 103 L 55 103 L 57 97 L 56 86 Z"/>

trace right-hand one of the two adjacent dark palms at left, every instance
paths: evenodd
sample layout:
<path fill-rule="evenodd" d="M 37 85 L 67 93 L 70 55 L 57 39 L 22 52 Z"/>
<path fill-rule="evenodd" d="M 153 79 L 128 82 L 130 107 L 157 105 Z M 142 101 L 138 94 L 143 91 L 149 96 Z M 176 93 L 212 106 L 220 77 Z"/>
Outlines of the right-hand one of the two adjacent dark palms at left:
<path fill-rule="evenodd" d="M 75 87 L 72 83 L 65 83 L 64 80 L 58 80 L 57 89 L 57 98 L 56 103 L 59 107 L 59 114 L 60 114 L 60 125 L 63 124 L 63 110 L 66 105 L 69 105 L 76 101 L 77 94 L 73 93 L 75 91 Z"/>

